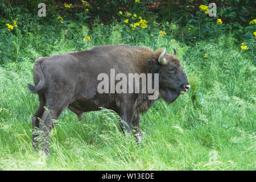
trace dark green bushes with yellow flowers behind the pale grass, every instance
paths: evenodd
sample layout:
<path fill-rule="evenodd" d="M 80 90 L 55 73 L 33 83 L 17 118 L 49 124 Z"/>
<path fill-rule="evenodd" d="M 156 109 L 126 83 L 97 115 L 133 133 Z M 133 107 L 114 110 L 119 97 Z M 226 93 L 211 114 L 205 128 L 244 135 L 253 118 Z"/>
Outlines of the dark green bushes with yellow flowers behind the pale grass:
<path fill-rule="evenodd" d="M 46 4 L 46 17 L 38 16 L 41 2 Z M 215 17 L 208 15 L 208 5 L 212 2 L 217 7 Z M 255 12 L 253 0 L 1 0 L 0 63 L 13 56 L 9 53 L 13 44 L 10 37 L 24 36 L 29 32 L 33 36 L 38 34 L 36 39 L 41 39 L 42 33 L 48 32 L 48 36 L 43 39 L 48 42 L 52 31 L 55 34 L 51 39 L 57 40 L 61 31 L 68 30 L 68 38 L 74 39 L 82 27 L 88 27 L 94 35 L 90 39 L 100 44 L 97 32 L 93 31 L 100 24 L 104 25 L 106 32 L 112 31 L 110 27 L 113 24 L 123 26 L 122 36 L 132 36 L 127 44 L 138 43 L 150 35 L 152 38 L 148 39 L 153 40 L 153 36 L 163 34 L 169 39 L 193 46 L 201 40 L 217 41 L 222 35 L 228 37 L 224 48 L 234 45 L 240 48 L 238 45 L 241 42 L 256 37 Z M 142 22 L 139 23 L 141 20 L 144 21 L 143 26 Z M 160 34 L 160 30 L 164 32 Z"/>

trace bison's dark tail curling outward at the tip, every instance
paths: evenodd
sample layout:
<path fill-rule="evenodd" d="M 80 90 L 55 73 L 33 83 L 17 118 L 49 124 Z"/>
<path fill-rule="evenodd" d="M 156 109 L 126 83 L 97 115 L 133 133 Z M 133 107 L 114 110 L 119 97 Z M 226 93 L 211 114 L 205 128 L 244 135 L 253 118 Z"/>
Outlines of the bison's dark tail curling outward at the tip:
<path fill-rule="evenodd" d="M 44 85 L 46 84 L 46 77 L 44 76 L 44 73 L 42 72 L 42 68 L 41 68 L 41 63 L 42 63 L 42 57 L 39 57 L 38 59 L 35 60 L 35 64 L 34 64 L 34 69 L 33 69 L 33 75 L 34 75 L 34 82 L 36 84 L 31 85 L 31 84 L 27 84 L 28 89 L 30 90 L 31 93 L 38 93 L 40 92 L 43 88 Z"/>

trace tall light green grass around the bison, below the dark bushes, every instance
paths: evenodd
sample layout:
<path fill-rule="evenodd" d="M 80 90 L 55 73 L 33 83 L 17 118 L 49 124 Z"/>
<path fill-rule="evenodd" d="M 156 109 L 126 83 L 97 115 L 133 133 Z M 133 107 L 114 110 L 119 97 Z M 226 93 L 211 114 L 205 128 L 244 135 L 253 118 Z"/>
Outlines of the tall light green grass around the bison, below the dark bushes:
<path fill-rule="evenodd" d="M 95 29 L 97 39 L 92 42 L 82 40 L 88 36 L 87 28 L 73 34 L 72 39 L 68 30 L 62 30 L 59 39 L 47 43 L 35 42 L 39 35 L 32 33 L 16 39 L 14 54 L 23 61 L 13 60 L 0 67 L 0 169 L 256 169 L 255 55 L 250 50 L 223 47 L 225 38 L 195 47 L 162 37 L 134 44 L 167 47 L 170 53 L 176 47 L 191 84 L 188 94 L 174 103 L 159 100 L 141 116 L 145 133 L 141 144 L 119 131 L 119 118 L 110 110 L 84 113 L 78 122 L 67 109 L 52 131 L 51 156 L 44 158 L 34 152 L 31 118 L 39 102 L 26 86 L 32 82 L 33 61 L 94 45 L 129 43 L 130 38 L 119 34 L 121 26 L 114 26 L 109 34 L 100 24 Z M 100 36 L 102 32 L 105 36 Z"/>

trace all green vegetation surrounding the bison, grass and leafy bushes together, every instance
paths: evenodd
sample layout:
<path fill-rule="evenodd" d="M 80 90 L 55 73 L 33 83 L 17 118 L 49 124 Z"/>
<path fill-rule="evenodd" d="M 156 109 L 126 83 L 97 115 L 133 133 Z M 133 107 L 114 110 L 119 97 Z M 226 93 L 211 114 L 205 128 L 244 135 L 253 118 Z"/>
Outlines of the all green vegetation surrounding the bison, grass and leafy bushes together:
<path fill-rule="evenodd" d="M 53 6 L 41 18 L 35 15 L 35 2 L 10 9 L 1 1 L 0 169 L 256 169 L 255 23 L 250 23 L 255 5 L 251 1 L 230 0 L 220 12 L 231 13 L 217 13 L 214 19 L 200 11 L 199 6 L 207 3 L 195 0 L 195 5 L 188 1 L 194 11 L 179 5 L 179 11 L 169 12 L 172 5 L 167 3 L 157 14 L 147 12 L 144 1 L 97 5 L 113 7 L 110 22 L 101 16 L 92 18 L 105 14 L 96 10 L 95 1 L 90 6 L 84 2 L 81 9 L 75 9 L 75 3 L 64 7 L 63 1 L 58 4 L 63 11 Z M 126 2 L 131 5 L 120 9 Z M 233 11 L 243 7 L 248 13 Z M 181 19 L 180 13 L 184 13 Z M 223 23 L 216 23 L 217 19 Z M 38 155 L 32 149 L 31 118 L 39 102 L 27 89 L 34 60 L 103 44 L 167 47 L 169 53 L 175 47 L 191 90 L 170 105 L 157 101 L 141 116 L 145 133 L 141 144 L 119 131 L 119 118 L 110 110 L 84 113 L 78 122 L 67 109 L 52 131 L 51 156 Z"/>

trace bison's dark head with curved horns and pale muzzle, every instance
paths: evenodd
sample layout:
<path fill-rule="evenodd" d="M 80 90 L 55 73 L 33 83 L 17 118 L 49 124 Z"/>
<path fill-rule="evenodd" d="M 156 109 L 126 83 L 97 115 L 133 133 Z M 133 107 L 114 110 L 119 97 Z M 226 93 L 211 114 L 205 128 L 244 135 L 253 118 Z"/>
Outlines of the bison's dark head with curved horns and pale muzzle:
<path fill-rule="evenodd" d="M 159 73 L 160 97 L 168 104 L 174 102 L 180 94 L 187 93 L 190 88 L 176 53 L 174 48 L 174 55 L 168 55 L 164 48 L 158 59 L 148 60 L 151 72 Z"/>

